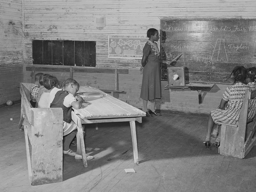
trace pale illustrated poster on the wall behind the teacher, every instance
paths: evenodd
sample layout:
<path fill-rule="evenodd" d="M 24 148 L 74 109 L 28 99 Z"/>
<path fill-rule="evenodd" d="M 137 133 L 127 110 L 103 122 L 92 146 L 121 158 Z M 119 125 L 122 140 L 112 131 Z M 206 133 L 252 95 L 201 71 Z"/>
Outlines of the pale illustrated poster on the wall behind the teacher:
<path fill-rule="evenodd" d="M 109 35 L 108 57 L 141 59 L 147 41 L 145 35 Z"/>

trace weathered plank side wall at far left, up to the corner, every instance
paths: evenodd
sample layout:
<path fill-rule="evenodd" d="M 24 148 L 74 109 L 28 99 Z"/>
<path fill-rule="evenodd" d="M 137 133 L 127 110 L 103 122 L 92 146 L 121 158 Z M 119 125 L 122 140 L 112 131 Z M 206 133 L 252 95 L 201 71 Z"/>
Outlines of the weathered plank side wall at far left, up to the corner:
<path fill-rule="evenodd" d="M 21 100 L 22 35 L 22 2 L 0 1 L 0 106 Z"/>

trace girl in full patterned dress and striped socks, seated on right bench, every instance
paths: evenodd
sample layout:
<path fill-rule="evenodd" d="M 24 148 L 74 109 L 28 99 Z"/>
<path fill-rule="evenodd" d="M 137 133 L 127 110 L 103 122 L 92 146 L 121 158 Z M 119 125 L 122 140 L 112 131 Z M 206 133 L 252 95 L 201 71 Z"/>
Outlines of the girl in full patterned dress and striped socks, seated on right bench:
<path fill-rule="evenodd" d="M 231 72 L 230 76 L 232 74 L 234 77 L 234 85 L 226 88 L 222 95 L 219 108 L 211 111 L 209 115 L 207 123 L 206 140 L 204 142 L 206 148 L 209 148 L 209 146 L 211 146 L 211 132 L 214 123 L 216 123 L 217 121 L 221 121 L 225 123 L 238 124 L 239 122 L 241 108 L 244 102 L 245 91 L 250 90 L 250 86 L 245 85 L 245 79 L 247 78 L 247 70 L 244 67 L 235 67 Z M 226 107 L 225 104 L 227 104 Z M 220 146 L 220 129 L 219 135 L 216 138 L 214 146 Z"/>

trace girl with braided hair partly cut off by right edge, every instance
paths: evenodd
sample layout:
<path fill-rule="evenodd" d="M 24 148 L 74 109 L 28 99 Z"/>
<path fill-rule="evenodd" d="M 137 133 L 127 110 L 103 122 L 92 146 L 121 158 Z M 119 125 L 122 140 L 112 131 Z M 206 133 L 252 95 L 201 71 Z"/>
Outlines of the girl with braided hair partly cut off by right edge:
<path fill-rule="evenodd" d="M 250 90 L 256 89 L 256 67 L 250 67 L 247 69 L 247 79 L 245 82 L 250 86 Z M 247 119 L 253 119 L 256 114 L 256 98 L 249 101 L 249 112 Z"/>

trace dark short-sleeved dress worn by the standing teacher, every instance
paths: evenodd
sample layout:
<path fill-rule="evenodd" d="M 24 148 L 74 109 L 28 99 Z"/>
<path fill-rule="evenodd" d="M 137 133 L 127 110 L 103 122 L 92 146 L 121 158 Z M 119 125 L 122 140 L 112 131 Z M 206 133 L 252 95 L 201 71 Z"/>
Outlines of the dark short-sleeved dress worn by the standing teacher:
<path fill-rule="evenodd" d="M 160 79 L 160 55 L 157 56 L 149 42 L 143 48 L 143 55 L 148 56 L 148 61 L 143 68 L 143 77 L 140 97 L 145 100 L 161 98 L 161 79 Z"/>

